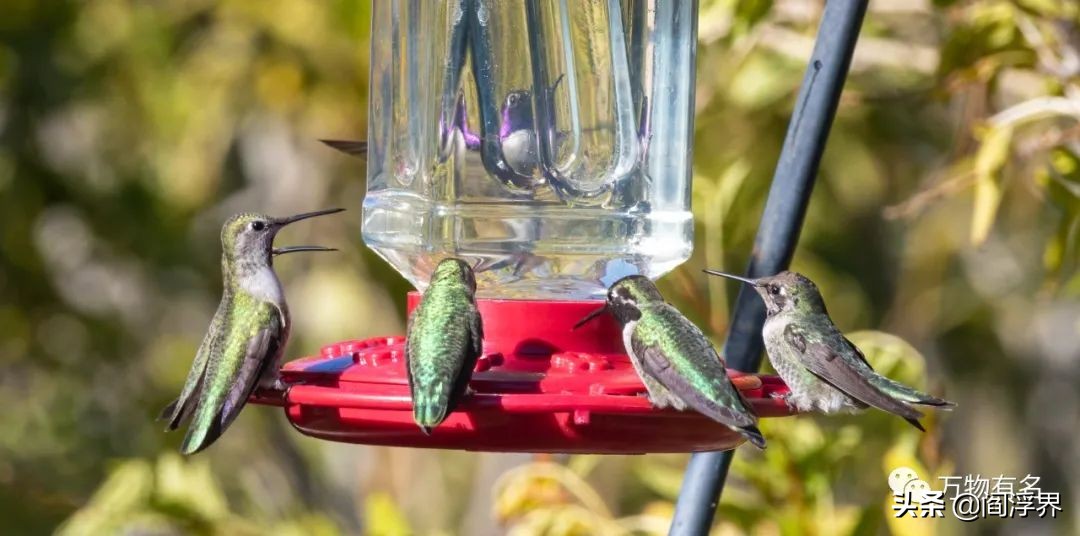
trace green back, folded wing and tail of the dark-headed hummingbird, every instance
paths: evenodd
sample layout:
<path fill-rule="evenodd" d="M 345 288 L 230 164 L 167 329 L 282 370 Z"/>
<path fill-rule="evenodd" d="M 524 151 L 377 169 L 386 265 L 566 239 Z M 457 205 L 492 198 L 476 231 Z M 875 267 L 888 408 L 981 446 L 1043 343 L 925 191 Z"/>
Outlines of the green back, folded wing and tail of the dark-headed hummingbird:
<path fill-rule="evenodd" d="M 664 304 L 643 316 L 631 335 L 631 347 L 642 372 L 687 406 L 738 429 L 757 447 L 765 439 L 757 430 L 754 410 L 731 383 L 724 362 L 701 330 Z M 659 321 L 659 322 L 658 322 Z M 643 325 L 644 322 L 644 325 Z M 661 327 L 662 326 L 662 327 Z"/>

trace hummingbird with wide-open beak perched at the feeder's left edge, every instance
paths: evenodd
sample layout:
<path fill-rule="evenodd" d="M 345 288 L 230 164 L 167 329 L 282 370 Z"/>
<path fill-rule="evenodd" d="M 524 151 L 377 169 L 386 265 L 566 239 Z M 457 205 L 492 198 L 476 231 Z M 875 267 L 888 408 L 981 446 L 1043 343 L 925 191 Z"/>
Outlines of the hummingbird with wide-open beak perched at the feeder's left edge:
<path fill-rule="evenodd" d="M 273 271 L 273 257 L 307 251 L 335 251 L 319 245 L 274 247 L 283 227 L 345 209 L 275 218 L 238 214 L 221 228 L 221 276 L 225 291 L 210 331 L 195 353 L 184 390 L 161 413 L 165 431 L 191 418 L 180 452 L 194 454 L 210 446 L 251 397 L 256 386 L 284 390 L 279 377 L 288 341 L 288 306 Z"/>

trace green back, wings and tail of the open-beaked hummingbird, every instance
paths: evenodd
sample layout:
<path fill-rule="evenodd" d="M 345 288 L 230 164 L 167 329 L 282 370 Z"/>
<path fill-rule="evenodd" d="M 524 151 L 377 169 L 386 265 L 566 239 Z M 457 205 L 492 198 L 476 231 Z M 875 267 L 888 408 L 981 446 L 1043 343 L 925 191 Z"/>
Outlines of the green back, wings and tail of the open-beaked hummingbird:
<path fill-rule="evenodd" d="M 240 414 L 266 367 L 283 350 L 286 320 L 278 306 L 239 294 L 220 351 L 208 358 L 198 406 L 180 451 L 210 446 Z"/>

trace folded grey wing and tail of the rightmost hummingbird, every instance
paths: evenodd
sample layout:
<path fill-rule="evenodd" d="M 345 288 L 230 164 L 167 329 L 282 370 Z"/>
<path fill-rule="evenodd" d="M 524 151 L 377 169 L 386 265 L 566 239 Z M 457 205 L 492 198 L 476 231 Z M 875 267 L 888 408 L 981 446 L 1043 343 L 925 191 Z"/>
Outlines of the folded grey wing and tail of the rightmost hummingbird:
<path fill-rule="evenodd" d="M 784 327 L 784 339 L 799 352 L 802 366 L 822 381 L 859 402 L 903 417 L 912 426 L 926 431 L 918 420 L 922 417 L 922 413 L 875 386 L 872 376 L 878 374 L 858 348 L 855 351 L 850 351 L 854 345 L 847 339 L 843 340 L 848 346 L 837 346 L 849 351 L 836 351 L 832 345 L 811 337 L 806 330 L 795 325 L 794 322 Z"/>

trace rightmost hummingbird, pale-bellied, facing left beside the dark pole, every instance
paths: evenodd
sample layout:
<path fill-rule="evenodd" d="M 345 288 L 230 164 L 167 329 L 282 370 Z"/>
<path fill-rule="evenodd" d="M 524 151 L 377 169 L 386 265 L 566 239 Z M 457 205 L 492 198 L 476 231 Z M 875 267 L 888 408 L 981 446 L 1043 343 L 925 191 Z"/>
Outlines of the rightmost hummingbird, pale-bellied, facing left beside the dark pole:
<path fill-rule="evenodd" d="M 791 388 L 786 396 L 789 406 L 826 414 L 874 406 L 926 431 L 919 423 L 922 413 L 913 405 L 956 405 L 875 372 L 863 352 L 833 323 L 818 286 L 806 276 L 782 271 L 747 279 L 715 270 L 705 272 L 742 281 L 765 300 L 767 317 L 761 337 L 772 367 Z"/>

